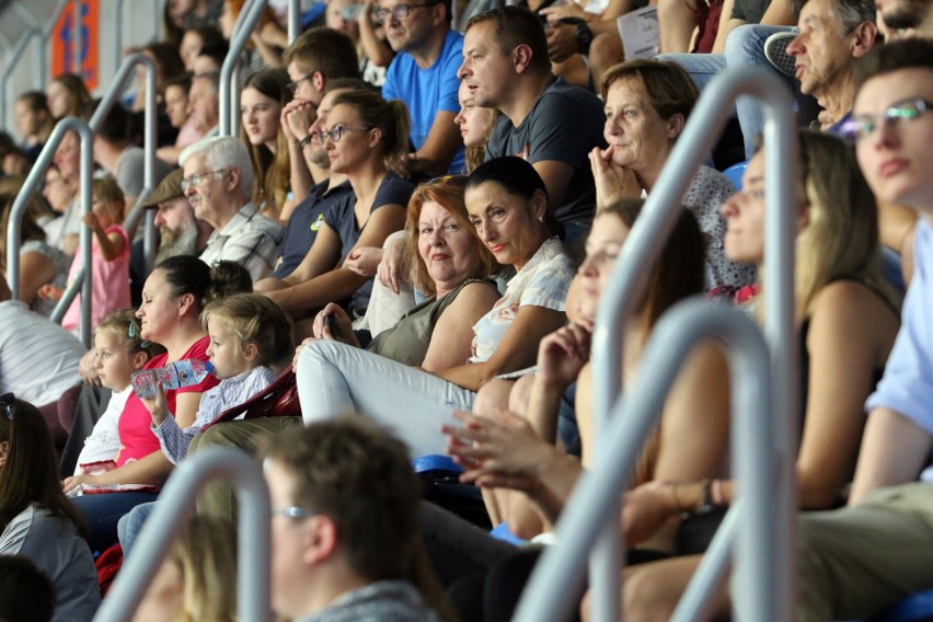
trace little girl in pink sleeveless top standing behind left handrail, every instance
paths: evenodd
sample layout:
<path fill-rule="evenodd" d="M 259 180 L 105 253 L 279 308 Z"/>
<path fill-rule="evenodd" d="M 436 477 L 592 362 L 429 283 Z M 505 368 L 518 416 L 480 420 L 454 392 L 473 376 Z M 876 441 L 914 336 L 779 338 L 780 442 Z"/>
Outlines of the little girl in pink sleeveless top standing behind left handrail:
<path fill-rule="evenodd" d="M 124 231 L 123 210 L 126 205 L 113 177 L 94 180 L 91 186 L 93 210 L 84 215 L 84 224 L 94 233 L 91 256 L 91 329 L 107 315 L 129 302 L 129 239 Z M 83 267 L 81 247 L 74 253 L 68 283 L 72 283 Z M 58 298 L 62 292 L 58 292 Z M 61 325 L 77 332 L 81 326 L 81 295 L 74 297 Z"/>

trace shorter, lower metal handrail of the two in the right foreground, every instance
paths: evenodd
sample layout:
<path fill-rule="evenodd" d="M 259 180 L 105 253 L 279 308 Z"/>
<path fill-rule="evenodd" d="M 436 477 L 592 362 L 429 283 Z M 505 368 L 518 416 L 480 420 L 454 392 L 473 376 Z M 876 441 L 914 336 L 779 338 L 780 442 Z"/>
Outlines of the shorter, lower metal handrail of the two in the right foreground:
<path fill-rule="evenodd" d="M 538 563 L 516 620 L 561 620 L 575 607 L 565 596 L 568 587 L 573 592 L 581 586 L 587 552 L 606 517 L 614 511 L 619 491 L 635 468 L 640 448 L 660 416 L 681 365 L 693 346 L 709 337 L 718 337 L 728 347 L 734 438 L 741 438 L 732 448 L 741 491 L 739 510 L 746 518 L 738 534 L 738 619 L 780 620 L 775 615 L 779 595 L 780 599 L 786 595 L 779 589 L 783 577 L 769 546 L 779 531 L 779 517 L 771 511 L 776 460 L 770 425 L 769 348 L 758 326 L 742 312 L 702 300 L 677 304 L 652 332 L 634 387 L 617 401 L 611 421 L 597 436 L 601 459 L 577 483 L 557 523 L 558 544 Z"/>

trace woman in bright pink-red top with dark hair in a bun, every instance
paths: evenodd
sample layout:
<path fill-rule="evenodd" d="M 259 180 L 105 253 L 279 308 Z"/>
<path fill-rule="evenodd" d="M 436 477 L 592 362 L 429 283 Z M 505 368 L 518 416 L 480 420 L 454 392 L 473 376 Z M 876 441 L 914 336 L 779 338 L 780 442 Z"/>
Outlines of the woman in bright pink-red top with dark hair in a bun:
<path fill-rule="evenodd" d="M 143 369 L 184 359 L 207 361 L 209 339 L 199 321 L 201 310 L 216 298 L 249 290 L 249 273 L 232 262 L 221 262 L 211 269 L 197 257 L 178 255 L 157 265 L 142 287 L 142 304 L 136 312 L 139 325 L 133 330 L 168 352 L 150 359 Z M 180 427 L 194 423 L 201 394 L 217 383 L 208 375 L 198 384 L 165 391 L 169 412 Z M 135 394 L 129 395 L 119 417 L 120 450 L 113 469 L 96 475 L 74 475 L 62 483 L 88 518 L 94 550 L 103 551 L 116 542 L 119 518 L 139 504 L 156 500 L 159 486 L 172 470 L 151 424 L 146 405 Z"/>

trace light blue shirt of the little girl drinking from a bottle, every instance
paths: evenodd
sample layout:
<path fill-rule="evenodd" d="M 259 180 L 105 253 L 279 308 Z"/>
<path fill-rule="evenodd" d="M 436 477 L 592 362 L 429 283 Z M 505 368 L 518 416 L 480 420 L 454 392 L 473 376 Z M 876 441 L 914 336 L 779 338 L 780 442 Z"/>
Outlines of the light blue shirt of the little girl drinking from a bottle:
<path fill-rule="evenodd" d="M 275 380 L 275 372 L 268 367 L 254 367 L 233 378 L 224 378 L 220 384 L 208 389 L 200 396 L 195 423 L 185 429 L 178 427 L 175 417 L 165 417 L 161 425 L 152 427 L 152 434 L 159 439 L 162 453 L 172 464 L 177 464 L 188 454 L 188 446 L 200 428 L 212 422 L 217 416 L 230 408 L 242 404 Z M 240 417 L 237 417 L 240 418 Z"/>

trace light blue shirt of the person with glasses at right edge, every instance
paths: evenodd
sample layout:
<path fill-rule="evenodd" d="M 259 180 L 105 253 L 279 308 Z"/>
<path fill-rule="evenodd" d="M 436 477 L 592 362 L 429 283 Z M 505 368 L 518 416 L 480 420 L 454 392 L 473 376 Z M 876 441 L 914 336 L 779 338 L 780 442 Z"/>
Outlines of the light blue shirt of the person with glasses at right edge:
<path fill-rule="evenodd" d="M 896 411 L 933 436 L 933 281 L 928 274 L 933 268 L 933 229 L 925 217 L 917 221 L 913 255 L 900 332 L 865 407 Z"/>

